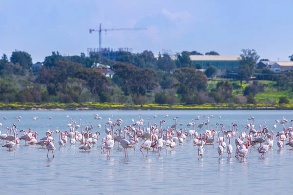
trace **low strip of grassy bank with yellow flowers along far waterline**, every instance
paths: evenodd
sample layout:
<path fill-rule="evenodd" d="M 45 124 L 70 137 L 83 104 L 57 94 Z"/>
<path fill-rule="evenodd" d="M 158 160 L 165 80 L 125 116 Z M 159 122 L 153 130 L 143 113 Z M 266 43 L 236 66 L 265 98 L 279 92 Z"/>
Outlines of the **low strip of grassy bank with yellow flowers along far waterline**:
<path fill-rule="evenodd" d="M 293 104 L 229 104 L 202 105 L 114 104 L 114 103 L 0 103 L 0 110 L 293 110 Z"/>

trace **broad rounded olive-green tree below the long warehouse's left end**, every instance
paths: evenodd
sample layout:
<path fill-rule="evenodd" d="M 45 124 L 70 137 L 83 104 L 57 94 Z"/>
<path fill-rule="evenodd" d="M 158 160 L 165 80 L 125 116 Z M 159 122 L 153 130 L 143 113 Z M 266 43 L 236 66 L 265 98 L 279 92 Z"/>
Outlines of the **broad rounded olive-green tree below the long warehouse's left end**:
<path fill-rule="evenodd" d="M 180 83 L 187 87 L 190 94 L 207 88 L 208 78 L 203 72 L 194 68 L 184 67 L 177 69 L 174 71 L 174 75 Z"/>

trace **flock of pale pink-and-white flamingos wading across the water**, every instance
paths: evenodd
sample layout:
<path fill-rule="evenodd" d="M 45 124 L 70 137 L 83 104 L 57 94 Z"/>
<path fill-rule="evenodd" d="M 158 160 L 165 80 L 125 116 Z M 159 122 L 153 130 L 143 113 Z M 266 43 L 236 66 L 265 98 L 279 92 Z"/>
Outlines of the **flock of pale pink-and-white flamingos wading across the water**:
<path fill-rule="evenodd" d="M 68 117 L 68 116 L 66 116 Z M 156 115 L 154 117 L 157 117 Z M 168 115 L 164 117 L 169 117 Z M 214 117 L 211 115 L 210 117 Z M 18 120 L 21 119 L 21 116 L 16 117 Z M 52 117 L 47 117 L 48 119 L 52 119 Z M 102 119 L 99 117 L 98 114 L 94 114 L 95 119 Z M 108 121 L 105 124 L 105 137 L 102 138 L 102 147 L 101 150 L 107 152 L 107 157 L 110 156 L 111 149 L 116 147 L 124 148 L 125 157 L 128 156 L 127 149 L 133 148 L 135 145 L 140 146 L 140 151 L 145 157 L 145 154 L 142 150 L 146 150 L 146 157 L 148 155 L 148 151 L 150 150 L 157 150 L 158 155 L 161 155 L 162 148 L 174 150 L 176 144 L 183 144 L 184 141 L 191 140 L 191 143 L 194 146 L 198 146 L 197 154 L 198 157 L 204 155 L 204 145 L 207 144 L 214 144 L 216 142 L 218 144 L 217 151 L 220 157 L 227 151 L 228 156 L 231 157 L 233 154 L 233 146 L 231 145 L 231 139 L 234 138 L 235 142 L 235 157 L 240 160 L 244 160 L 244 157 L 248 153 L 249 147 L 255 147 L 259 144 L 258 153 L 261 156 L 264 156 L 270 148 L 272 148 L 274 139 L 273 139 L 273 130 L 269 130 L 264 122 L 264 126 L 259 125 L 259 128 L 254 127 L 254 117 L 248 118 L 247 124 L 244 125 L 244 131 L 240 131 L 238 133 L 238 124 L 231 123 L 229 126 L 229 130 L 225 131 L 225 126 L 221 123 L 215 124 L 216 130 L 209 129 L 209 117 L 205 122 L 205 116 L 203 116 L 203 122 L 200 123 L 197 128 L 200 129 L 202 133 L 198 134 L 197 130 L 195 129 L 195 122 L 194 120 L 199 120 L 200 116 L 197 116 L 194 120 L 192 119 L 185 127 L 182 123 L 179 124 L 179 130 L 177 129 L 177 118 L 174 119 L 174 124 L 167 129 L 162 128 L 162 124 L 165 123 L 165 120 L 161 120 L 159 126 L 154 123 L 150 125 L 150 118 L 147 119 L 148 125 L 145 127 L 144 119 L 141 118 L 141 114 L 139 115 L 139 120 L 134 122 L 134 119 L 131 120 L 131 123 L 121 127 L 123 123 L 123 117 L 120 117 L 115 122 L 113 121 L 113 116 L 108 118 Z M 219 117 L 221 118 L 221 117 Z M 7 119 L 4 117 L 4 119 Z M 34 117 L 33 120 L 37 120 L 38 117 Z M 252 122 L 249 123 L 249 120 Z M 279 120 L 275 120 L 276 123 Z M 281 119 L 281 124 L 283 125 L 282 131 L 278 131 L 276 137 L 277 139 L 277 146 L 281 149 L 285 146 L 285 141 L 287 138 L 289 140 L 286 142 L 286 145 L 293 147 L 293 120 L 291 120 L 291 127 L 285 128 L 285 124 L 288 122 L 286 118 L 283 117 Z M 2 126 L 2 123 L 0 123 Z M 77 144 L 80 142 L 80 150 L 90 150 L 95 144 L 99 141 L 99 136 L 101 135 L 100 131 L 93 131 L 93 125 L 90 127 L 84 128 L 84 125 L 81 124 L 81 119 L 79 120 L 79 124 L 76 124 L 75 121 L 70 119 L 70 123 L 67 124 L 68 131 L 62 132 L 57 128 L 55 131 L 56 134 L 59 134 L 58 144 L 60 147 L 69 143 L 71 145 Z M 101 128 L 101 125 L 98 125 L 98 128 Z M 117 129 L 116 131 L 114 129 Z M 190 130 L 186 130 L 190 128 Z M 203 128 L 207 128 L 204 130 Z M 273 125 L 273 128 L 276 128 L 276 124 Z M 78 130 L 81 129 L 81 132 Z M 10 132 L 10 134 L 9 134 Z M 118 132 L 118 133 L 117 133 Z M 21 134 L 22 133 L 22 134 Z M 20 134 L 20 137 L 18 135 Z M 45 133 L 45 137 L 42 137 L 39 141 L 37 139 L 38 133 L 33 132 L 31 129 L 25 131 L 21 129 L 19 132 L 16 129 L 16 125 L 13 124 L 12 128 L 6 127 L 6 134 L 1 134 L 0 132 L 0 141 L 2 141 L 3 146 L 9 150 L 12 149 L 16 144 L 19 144 L 20 140 L 25 141 L 29 145 L 41 145 L 42 147 L 46 146 L 47 148 L 47 157 L 49 156 L 49 151 L 52 151 L 52 155 L 54 157 L 53 150 L 56 150 L 54 146 L 54 138 L 52 135 L 54 134 L 53 131 L 48 130 Z M 124 136 L 122 135 L 124 134 Z M 199 136 L 199 137 L 198 137 Z M 217 136 L 217 137 L 216 137 Z M 128 138 L 127 138 L 128 137 Z M 228 144 L 225 142 L 225 139 L 228 139 Z M 4 141 L 6 143 L 4 144 Z M 142 142 L 142 144 L 139 144 Z M 115 144 L 118 143 L 118 144 Z"/>

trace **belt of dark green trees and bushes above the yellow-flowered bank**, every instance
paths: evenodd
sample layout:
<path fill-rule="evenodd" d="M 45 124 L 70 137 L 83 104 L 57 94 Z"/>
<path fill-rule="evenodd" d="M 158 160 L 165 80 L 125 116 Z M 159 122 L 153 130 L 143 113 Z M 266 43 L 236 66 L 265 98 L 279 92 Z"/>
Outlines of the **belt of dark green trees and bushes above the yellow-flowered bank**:
<path fill-rule="evenodd" d="M 167 53 L 156 58 L 151 51 L 91 53 L 86 57 L 64 56 L 52 52 L 44 58 L 39 71 L 31 69 L 31 55 L 25 51 L 13 51 L 8 59 L 0 59 L 1 102 L 116 102 L 203 104 L 209 102 L 255 103 L 257 87 L 247 86 L 241 97 L 233 90 L 248 82 L 256 70 L 259 59 L 255 50 L 242 50 L 238 70 L 241 84 L 229 80 L 209 84 L 209 77 L 217 73 L 214 66 L 202 71 L 200 64 L 193 64 L 190 55 L 203 55 L 197 51 L 183 51 L 174 56 Z M 215 51 L 205 55 L 219 55 Z M 109 65 L 115 72 L 112 79 L 99 72 L 95 64 Z M 105 68 L 105 67 L 103 67 Z M 263 71 L 263 70 L 262 70 Z M 265 70 L 267 71 L 267 70 Z M 268 71 L 267 71 L 268 72 Z M 280 90 L 293 89 L 290 74 L 272 75 Z M 273 77 L 273 78 L 272 78 Z M 243 98 L 245 99 L 243 101 Z M 285 99 L 286 101 L 286 99 Z"/>

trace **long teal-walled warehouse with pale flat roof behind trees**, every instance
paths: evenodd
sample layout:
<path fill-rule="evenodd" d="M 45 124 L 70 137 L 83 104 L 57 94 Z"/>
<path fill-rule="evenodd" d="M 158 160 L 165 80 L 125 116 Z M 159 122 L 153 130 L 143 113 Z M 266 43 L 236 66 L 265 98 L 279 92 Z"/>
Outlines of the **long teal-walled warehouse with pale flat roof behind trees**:
<path fill-rule="evenodd" d="M 218 69 L 217 76 L 226 75 L 228 71 L 236 71 L 239 69 L 240 56 L 202 56 L 191 55 L 190 59 L 193 64 L 200 64 L 203 69 L 206 66 L 214 66 Z"/>

